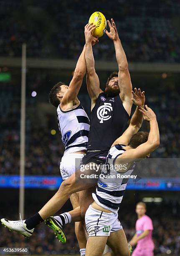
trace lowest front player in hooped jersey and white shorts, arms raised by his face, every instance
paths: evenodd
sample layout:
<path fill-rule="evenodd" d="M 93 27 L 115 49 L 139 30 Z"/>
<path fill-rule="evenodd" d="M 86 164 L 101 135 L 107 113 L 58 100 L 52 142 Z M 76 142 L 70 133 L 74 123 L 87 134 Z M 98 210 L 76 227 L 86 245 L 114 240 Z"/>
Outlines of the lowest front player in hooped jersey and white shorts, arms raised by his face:
<path fill-rule="evenodd" d="M 118 210 L 127 186 L 124 175 L 131 175 L 137 159 L 149 157 L 160 144 L 156 115 L 147 105 L 144 108 L 144 94 L 135 89 L 137 108 L 127 130 L 112 144 L 106 158 L 106 173 L 99 176 L 94 202 L 86 211 L 88 231 L 86 256 L 102 255 L 105 245 L 113 255 L 129 256 L 127 239 L 118 220 Z M 138 132 L 143 117 L 150 122 L 150 133 Z M 103 172 L 102 172 L 103 173 Z"/>

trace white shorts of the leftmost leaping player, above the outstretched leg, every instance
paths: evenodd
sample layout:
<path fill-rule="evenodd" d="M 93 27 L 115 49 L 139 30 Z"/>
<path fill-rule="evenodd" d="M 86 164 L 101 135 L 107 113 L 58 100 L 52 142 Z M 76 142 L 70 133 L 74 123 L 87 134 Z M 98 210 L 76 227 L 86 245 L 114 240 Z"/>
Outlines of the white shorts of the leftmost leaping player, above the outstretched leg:
<path fill-rule="evenodd" d="M 60 172 L 63 179 L 68 179 L 80 169 L 81 160 L 85 154 L 71 153 L 63 156 L 60 163 Z"/>

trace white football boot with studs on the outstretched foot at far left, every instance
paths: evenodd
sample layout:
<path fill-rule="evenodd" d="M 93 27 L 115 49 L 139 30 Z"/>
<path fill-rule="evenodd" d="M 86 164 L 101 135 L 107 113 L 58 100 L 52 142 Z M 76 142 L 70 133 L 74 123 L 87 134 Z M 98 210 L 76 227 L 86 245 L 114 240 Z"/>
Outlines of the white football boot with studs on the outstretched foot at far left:
<path fill-rule="evenodd" d="M 1 219 L 1 223 L 9 228 L 10 231 L 15 231 L 18 232 L 20 234 L 22 234 L 23 236 L 29 238 L 30 236 L 32 236 L 34 228 L 29 230 L 28 228 L 26 228 L 26 224 L 25 224 L 25 220 L 7 220 L 7 219 Z"/>

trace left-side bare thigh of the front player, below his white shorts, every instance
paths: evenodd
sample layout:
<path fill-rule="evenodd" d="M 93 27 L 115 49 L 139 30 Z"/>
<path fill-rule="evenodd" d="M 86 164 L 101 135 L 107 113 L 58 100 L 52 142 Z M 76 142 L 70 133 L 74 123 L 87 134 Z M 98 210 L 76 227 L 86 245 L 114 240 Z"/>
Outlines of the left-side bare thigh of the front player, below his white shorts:
<path fill-rule="evenodd" d="M 86 245 L 86 256 L 101 256 L 106 246 L 107 236 L 91 236 Z"/>

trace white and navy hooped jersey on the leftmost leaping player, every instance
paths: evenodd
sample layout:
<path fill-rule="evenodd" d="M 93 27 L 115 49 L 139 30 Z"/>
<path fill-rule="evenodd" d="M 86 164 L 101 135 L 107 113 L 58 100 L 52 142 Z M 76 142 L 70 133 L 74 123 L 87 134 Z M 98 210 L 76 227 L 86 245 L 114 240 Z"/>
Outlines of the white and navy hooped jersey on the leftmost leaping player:
<path fill-rule="evenodd" d="M 64 155 L 86 150 L 90 128 L 89 118 L 79 102 L 75 108 L 63 111 L 57 108 L 58 126 L 65 146 Z"/>

